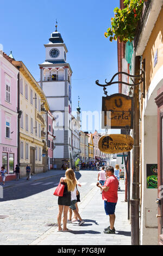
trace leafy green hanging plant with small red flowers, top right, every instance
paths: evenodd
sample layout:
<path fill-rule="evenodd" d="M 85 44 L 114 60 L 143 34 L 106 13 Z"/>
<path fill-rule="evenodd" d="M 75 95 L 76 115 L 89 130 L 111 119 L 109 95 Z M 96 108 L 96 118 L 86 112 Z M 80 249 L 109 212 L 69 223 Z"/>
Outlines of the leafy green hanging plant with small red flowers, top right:
<path fill-rule="evenodd" d="M 111 18 L 111 28 L 104 33 L 105 38 L 110 37 L 111 42 L 117 39 L 124 43 L 133 41 L 145 1 L 147 0 L 124 0 L 124 9 L 116 7 L 115 17 Z"/>

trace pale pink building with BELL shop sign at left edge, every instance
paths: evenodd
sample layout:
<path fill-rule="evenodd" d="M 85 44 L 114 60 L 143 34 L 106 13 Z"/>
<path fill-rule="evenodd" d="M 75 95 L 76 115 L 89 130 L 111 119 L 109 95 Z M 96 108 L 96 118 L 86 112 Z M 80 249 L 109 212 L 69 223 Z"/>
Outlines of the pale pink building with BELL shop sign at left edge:
<path fill-rule="evenodd" d="M 17 164 L 18 70 L 12 60 L 7 54 L 0 54 L 0 167 L 4 166 L 9 174 Z"/>

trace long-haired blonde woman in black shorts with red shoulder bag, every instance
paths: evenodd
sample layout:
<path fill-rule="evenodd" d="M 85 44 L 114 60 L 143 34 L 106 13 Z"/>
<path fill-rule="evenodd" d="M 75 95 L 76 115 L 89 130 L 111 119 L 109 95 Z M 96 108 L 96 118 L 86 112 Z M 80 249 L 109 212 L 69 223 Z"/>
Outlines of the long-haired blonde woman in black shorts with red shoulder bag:
<path fill-rule="evenodd" d="M 57 217 L 58 221 L 58 231 L 68 232 L 71 231 L 66 227 L 67 225 L 67 212 L 71 205 L 71 191 L 74 191 L 77 185 L 77 179 L 74 175 L 74 171 L 71 168 L 68 168 L 65 173 L 65 177 L 60 179 L 60 183 L 64 182 L 64 194 L 62 197 L 58 197 L 58 206 L 59 206 L 59 213 Z M 63 217 L 63 229 L 61 228 L 61 216 L 62 212 L 64 211 Z"/>

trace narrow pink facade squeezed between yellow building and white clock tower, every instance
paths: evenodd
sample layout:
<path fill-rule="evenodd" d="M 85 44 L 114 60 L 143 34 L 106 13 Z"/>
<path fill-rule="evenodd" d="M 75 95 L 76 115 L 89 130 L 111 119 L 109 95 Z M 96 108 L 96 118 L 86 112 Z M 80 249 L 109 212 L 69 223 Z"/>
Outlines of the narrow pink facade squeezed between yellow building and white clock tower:
<path fill-rule="evenodd" d="M 54 117 L 50 111 L 48 111 L 48 170 L 51 170 L 54 168 L 54 156 L 53 156 L 53 150 L 54 150 Z"/>

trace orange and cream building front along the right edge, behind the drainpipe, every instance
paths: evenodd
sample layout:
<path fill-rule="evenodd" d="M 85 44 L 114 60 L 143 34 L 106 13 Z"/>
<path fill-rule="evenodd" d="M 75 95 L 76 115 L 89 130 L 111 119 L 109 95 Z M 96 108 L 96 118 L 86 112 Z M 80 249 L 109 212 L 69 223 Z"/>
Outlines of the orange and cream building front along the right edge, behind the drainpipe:
<path fill-rule="evenodd" d="M 142 83 L 139 88 L 140 243 L 141 245 L 157 245 L 160 242 L 162 245 L 162 198 L 160 198 L 160 204 L 156 204 L 156 198 L 159 198 L 163 184 L 162 3 L 151 1 L 145 14 L 147 14 L 144 17 L 145 22 L 135 47 L 135 54 L 137 59 L 139 58 L 139 69 L 145 71 L 145 83 Z"/>

